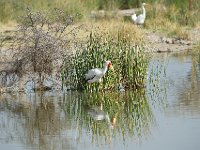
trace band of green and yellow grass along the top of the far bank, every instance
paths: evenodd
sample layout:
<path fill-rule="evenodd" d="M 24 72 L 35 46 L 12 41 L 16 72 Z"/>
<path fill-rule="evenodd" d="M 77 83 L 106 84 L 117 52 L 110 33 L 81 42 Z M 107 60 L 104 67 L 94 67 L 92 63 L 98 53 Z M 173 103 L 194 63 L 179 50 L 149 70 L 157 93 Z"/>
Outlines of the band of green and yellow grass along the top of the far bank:
<path fill-rule="evenodd" d="M 191 6 L 189 6 L 189 1 L 146 0 L 145 2 L 149 5 L 146 6 L 145 28 L 166 33 L 170 37 L 189 39 L 190 34 L 186 28 L 200 26 L 200 1 L 193 0 Z M 76 14 L 79 21 L 90 23 L 92 11 L 140 8 L 142 2 L 141 0 L 1 0 L 0 22 L 19 22 L 18 17 L 23 15 L 29 6 L 36 11 L 59 8 L 68 15 Z M 115 13 L 110 11 L 105 11 L 105 14 L 105 18 L 108 16 L 109 19 L 116 18 Z"/>

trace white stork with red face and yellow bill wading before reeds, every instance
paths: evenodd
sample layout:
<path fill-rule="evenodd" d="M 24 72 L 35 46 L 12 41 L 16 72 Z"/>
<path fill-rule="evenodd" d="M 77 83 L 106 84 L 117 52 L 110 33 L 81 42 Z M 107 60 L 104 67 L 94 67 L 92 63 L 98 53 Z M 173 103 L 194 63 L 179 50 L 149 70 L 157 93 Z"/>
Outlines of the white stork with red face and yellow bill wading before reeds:
<path fill-rule="evenodd" d="M 101 82 L 101 79 L 106 74 L 108 68 L 113 70 L 112 63 L 109 60 L 105 61 L 104 68 L 94 68 L 89 70 L 88 73 L 85 74 L 86 82 L 88 83 Z"/>

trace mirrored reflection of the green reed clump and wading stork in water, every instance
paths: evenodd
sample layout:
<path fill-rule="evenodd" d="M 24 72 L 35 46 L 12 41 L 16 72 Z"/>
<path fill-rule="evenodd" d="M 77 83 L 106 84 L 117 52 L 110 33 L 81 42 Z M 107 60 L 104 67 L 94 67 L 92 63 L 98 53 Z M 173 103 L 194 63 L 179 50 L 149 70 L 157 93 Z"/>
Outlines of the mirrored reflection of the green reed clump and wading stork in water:
<path fill-rule="evenodd" d="M 76 122 L 81 120 L 79 132 L 86 129 L 93 142 L 102 138 L 110 143 L 115 136 L 123 137 L 124 142 L 126 136 L 141 138 L 155 121 L 145 91 L 73 94 L 66 100 L 65 112 Z"/>

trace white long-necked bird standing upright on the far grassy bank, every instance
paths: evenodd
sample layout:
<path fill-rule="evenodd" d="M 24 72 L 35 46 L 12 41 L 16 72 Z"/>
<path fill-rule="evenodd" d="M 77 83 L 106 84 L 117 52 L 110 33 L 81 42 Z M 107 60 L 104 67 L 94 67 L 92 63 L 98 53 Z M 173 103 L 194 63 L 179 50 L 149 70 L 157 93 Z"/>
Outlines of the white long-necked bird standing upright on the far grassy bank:
<path fill-rule="evenodd" d="M 144 24 L 144 21 L 145 21 L 145 18 L 146 18 L 146 11 L 145 11 L 145 8 L 144 8 L 145 5 L 146 5 L 146 3 L 142 3 L 142 11 L 143 11 L 142 14 L 136 16 L 136 14 L 134 13 L 131 16 L 131 18 L 132 18 L 132 20 L 135 24 L 138 24 L 138 25 Z"/>

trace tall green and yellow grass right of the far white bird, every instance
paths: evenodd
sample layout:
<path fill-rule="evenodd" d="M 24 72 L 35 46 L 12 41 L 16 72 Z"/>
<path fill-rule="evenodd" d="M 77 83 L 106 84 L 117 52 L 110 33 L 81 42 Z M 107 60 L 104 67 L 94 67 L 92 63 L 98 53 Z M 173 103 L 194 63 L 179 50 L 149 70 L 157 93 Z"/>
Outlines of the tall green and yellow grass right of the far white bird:
<path fill-rule="evenodd" d="M 155 1 L 147 7 L 147 29 L 166 33 L 179 39 L 190 39 L 187 29 L 198 27 L 200 2 L 194 0 L 191 9 L 188 1 Z M 186 29 L 187 28 L 187 29 Z"/>

